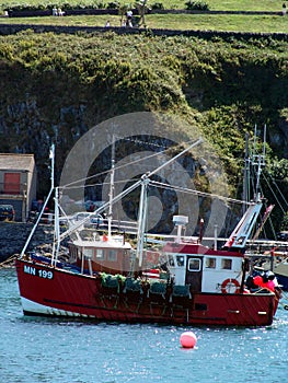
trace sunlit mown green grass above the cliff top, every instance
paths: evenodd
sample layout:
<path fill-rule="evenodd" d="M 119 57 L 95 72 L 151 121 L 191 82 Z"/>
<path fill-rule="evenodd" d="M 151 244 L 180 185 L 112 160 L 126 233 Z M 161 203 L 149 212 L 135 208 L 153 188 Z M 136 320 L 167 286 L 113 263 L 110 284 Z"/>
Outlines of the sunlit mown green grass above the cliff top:
<path fill-rule="evenodd" d="M 9 4 L 21 4 L 25 0 L 7 0 Z M 28 3 L 37 4 L 39 0 L 30 0 Z M 56 4 L 56 2 L 53 2 Z M 57 0 L 57 7 L 67 3 L 67 0 Z M 79 3 L 70 0 L 69 3 Z M 81 3 L 89 4 L 91 1 L 82 0 Z M 124 2 L 123 3 L 127 3 Z M 150 1 L 151 5 L 153 2 Z M 163 0 L 165 9 L 184 9 L 185 1 Z M 210 10 L 218 11 L 274 11 L 277 15 L 261 14 L 147 14 L 146 24 L 148 28 L 170 28 L 170 30 L 200 30 L 200 31 L 224 31 L 224 32 L 255 32 L 255 33 L 288 33 L 288 14 L 280 15 L 281 1 L 273 0 L 208 0 Z M 47 3 L 45 2 L 47 5 Z M 288 4 L 287 4 L 288 5 Z M 3 7 L 3 4 L 2 4 Z M 62 7 L 65 10 L 65 7 Z M 58 24 L 58 25 L 79 25 L 79 26 L 104 26 L 110 20 L 111 26 L 120 25 L 119 15 L 78 15 L 64 18 L 0 18 L 0 23 L 16 24 Z"/>

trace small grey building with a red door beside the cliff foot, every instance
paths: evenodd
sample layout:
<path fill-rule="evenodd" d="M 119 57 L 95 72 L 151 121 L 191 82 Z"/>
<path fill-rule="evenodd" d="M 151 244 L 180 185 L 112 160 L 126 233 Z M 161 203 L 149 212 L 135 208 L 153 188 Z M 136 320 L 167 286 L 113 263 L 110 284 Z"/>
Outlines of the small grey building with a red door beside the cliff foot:
<path fill-rule="evenodd" d="M 25 222 L 35 198 L 34 154 L 0 153 L 0 204 L 13 205 L 15 220 Z"/>

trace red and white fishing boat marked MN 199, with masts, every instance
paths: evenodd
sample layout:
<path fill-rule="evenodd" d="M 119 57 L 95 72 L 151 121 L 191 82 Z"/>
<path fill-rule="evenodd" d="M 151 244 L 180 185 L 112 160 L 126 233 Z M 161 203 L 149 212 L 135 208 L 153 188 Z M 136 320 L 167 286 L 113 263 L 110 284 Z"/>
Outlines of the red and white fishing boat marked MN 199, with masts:
<path fill-rule="evenodd" d="M 199 142 L 197 140 L 193 146 Z M 184 155 L 193 146 L 175 158 Z M 54 162 L 54 154 L 50 156 Z M 245 246 L 261 213 L 263 201 L 260 196 L 249 204 L 220 249 L 205 246 L 201 235 L 183 236 L 187 217 L 174 216 L 177 233 L 162 243 L 157 253 L 161 254 L 153 259 L 151 252 L 145 248 L 146 200 L 148 185 L 157 185 L 152 176 L 162 166 L 113 197 L 113 202 L 118 201 L 141 187 L 137 246 L 118 242 L 117 252 L 113 252 L 110 259 L 115 243 L 110 247 L 112 240 L 106 241 L 103 234 L 93 241 L 77 235 L 70 248 L 73 259 L 59 260 L 61 241 L 74 235 L 72 233 L 78 232 L 83 222 L 60 232 L 59 193 L 53 182 L 50 194 L 55 190 L 56 223 L 51 257 L 37 257 L 27 252 L 32 231 L 15 262 L 25 315 L 175 325 L 266 326 L 273 323 L 280 299 L 274 277 L 269 277 L 270 283 L 266 285 L 255 280 L 258 282 L 256 289 L 246 283 L 252 270 Z M 110 204 L 104 204 L 94 213 L 102 213 Z M 154 260 L 155 268 L 150 267 L 148 258 Z"/>

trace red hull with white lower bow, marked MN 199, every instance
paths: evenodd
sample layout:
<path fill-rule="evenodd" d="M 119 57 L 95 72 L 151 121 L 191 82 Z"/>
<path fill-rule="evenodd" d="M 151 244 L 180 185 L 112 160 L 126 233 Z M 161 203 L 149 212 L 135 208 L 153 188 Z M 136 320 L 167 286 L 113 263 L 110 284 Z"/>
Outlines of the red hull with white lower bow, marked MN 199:
<path fill-rule="evenodd" d="M 103 287 L 101 277 L 18 259 L 24 314 L 80 316 L 99 321 L 185 325 L 265 326 L 278 300 L 273 293 L 193 293 L 189 298 L 125 292 Z"/>

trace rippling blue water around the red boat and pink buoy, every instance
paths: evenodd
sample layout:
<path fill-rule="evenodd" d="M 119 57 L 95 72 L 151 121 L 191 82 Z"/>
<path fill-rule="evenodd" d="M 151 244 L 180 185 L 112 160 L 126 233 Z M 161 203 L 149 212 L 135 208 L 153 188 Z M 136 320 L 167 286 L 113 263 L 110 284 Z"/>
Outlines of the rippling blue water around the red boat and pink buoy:
<path fill-rule="evenodd" d="M 288 311 L 283 304 L 273 325 L 260 328 L 26 317 L 15 269 L 0 269 L 0 382 L 285 382 Z M 185 330 L 197 337 L 194 349 L 180 345 Z"/>

